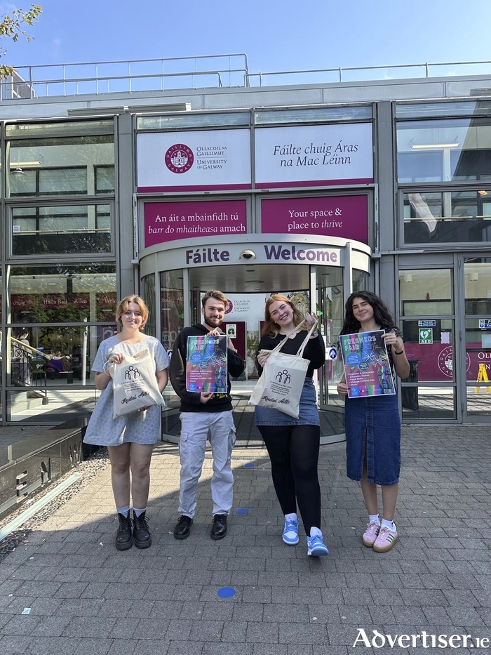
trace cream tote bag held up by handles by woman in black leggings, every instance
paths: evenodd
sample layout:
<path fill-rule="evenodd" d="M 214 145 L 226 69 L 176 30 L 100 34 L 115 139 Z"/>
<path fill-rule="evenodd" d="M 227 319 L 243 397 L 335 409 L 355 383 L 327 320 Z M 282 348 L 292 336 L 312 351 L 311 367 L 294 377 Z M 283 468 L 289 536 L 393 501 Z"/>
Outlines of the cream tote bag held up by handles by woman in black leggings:
<path fill-rule="evenodd" d="M 295 330 L 302 323 L 297 325 Z M 290 334 L 295 330 L 287 334 L 274 350 L 261 351 L 269 352 L 269 357 L 262 369 L 262 376 L 257 381 L 253 393 L 250 396 L 250 405 L 261 405 L 270 409 L 278 409 L 288 414 L 288 416 L 298 418 L 300 396 L 302 395 L 305 375 L 310 363 L 309 359 L 304 359 L 302 355 L 304 354 L 307 341 L 316 328 L 317 324 L 315 323 L 309 332 L 307 332 L 304 342 L 297 350 L 297 355 L 285 355 L 285 353 L 280 352 Z"/>

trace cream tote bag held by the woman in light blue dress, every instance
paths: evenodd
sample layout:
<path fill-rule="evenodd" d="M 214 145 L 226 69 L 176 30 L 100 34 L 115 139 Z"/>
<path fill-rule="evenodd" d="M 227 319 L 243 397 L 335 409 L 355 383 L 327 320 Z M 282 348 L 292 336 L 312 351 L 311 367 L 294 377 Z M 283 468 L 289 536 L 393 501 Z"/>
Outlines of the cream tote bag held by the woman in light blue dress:
<path fill-rule="evenodd" d="M 134 357 L 125 355 L 119 364 L 111 365 L 114 396 L 113 418 L 124 416 L 150 405 L 163 405 L 155 373 L 155 360 L 148 348 Z"/>

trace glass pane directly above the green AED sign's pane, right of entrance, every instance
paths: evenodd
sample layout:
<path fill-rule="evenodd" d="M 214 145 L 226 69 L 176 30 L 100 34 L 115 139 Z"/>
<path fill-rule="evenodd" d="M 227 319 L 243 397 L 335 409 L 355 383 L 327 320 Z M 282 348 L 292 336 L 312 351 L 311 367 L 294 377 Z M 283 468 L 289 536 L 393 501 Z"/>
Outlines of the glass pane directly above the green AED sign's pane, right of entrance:
<path fill-rule="evenodd" d="M 401 316 L 433 319 L 433 315 L 452 315 L 452 271 L 446 268 L 399 271 Z"/>

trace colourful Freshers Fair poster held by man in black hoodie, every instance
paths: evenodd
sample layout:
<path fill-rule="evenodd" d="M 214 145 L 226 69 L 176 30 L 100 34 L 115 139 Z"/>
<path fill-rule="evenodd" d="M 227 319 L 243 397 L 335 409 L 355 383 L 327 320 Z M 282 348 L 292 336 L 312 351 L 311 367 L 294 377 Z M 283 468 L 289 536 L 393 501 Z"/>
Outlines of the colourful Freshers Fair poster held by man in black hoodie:
<path fill-rule="evenodd" d="M 227 393 L 227 336 L 187 338 L 186 390 Z"/>

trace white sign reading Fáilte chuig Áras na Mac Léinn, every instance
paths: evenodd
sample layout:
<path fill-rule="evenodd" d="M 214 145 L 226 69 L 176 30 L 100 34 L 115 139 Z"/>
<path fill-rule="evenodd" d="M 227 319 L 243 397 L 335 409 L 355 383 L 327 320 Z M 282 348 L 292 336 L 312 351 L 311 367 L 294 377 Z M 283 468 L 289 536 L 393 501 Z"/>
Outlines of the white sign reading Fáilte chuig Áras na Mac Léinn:
<path fill-rule="evenodd" d="M 371 183 L 372 146 L 369 123 L 256 128 L 256 185 Z"/>

